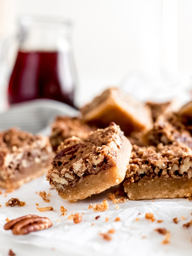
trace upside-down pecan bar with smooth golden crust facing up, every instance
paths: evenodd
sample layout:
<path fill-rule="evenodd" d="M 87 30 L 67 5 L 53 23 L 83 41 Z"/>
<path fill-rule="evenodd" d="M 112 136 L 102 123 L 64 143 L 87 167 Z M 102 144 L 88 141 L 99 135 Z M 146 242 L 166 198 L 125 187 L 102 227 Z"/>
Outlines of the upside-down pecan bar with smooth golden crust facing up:
<path fill-rule="evenodd" d="M 115 122 L 129 136 L 152 128 L 151 110 L 119 88 L 109 88 L 80 109 L 85 122 L 104 128 Z"/>

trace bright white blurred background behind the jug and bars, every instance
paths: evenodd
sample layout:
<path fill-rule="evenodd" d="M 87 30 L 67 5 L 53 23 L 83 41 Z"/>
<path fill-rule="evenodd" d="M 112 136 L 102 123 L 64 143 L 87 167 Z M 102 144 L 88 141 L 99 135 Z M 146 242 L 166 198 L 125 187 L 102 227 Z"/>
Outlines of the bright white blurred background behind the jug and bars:
<path fill-rule="evenodd" d="M 191 5 L 189 0 L 0 0 L 0 39 L 14 32 L 22 14 L 70 19 L 78 105 L 108 86 L 138 98 L 167 99 L 191 85 Z"/>

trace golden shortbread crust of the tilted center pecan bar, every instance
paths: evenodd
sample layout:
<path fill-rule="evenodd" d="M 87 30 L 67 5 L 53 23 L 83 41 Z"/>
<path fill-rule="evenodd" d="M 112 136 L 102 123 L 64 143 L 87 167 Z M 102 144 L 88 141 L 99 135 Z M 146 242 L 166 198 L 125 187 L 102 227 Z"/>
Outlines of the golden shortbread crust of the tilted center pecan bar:
<path fill-rule="evenodd" d="M 86 177 L 81 183 L 77 183 L 74 188 L 59 191 L 59 196 L 68 199 L 70 202 L 76 202 L 78 199 L 85 199 L 93 194 L 98 194 L 122 182 L 125 178 L 132 150 L 130 141 L 125 136 L 123 137 L 122 149 L 118 152 L 117 166 Z"/>

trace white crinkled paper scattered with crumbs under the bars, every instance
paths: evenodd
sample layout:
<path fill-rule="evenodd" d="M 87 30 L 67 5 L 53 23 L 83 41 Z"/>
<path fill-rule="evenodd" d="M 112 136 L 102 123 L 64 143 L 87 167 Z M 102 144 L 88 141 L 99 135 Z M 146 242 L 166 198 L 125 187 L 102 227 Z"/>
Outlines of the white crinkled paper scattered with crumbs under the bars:
<path fill-rule="evenodd" d="M 45 111 L 47 111 L 46 108 Z M 63 106 L 63 113 L 66 114 L 65 106 Z M 67 114 L 71 114 L 68 109 Z M 8 115 L 9 113 L 7 113 Z M 100 204 L 107 198 L 107 194 L 116 191 L 116 188 L 71 204 L 60 198 L 54 189 L 50 189 L 45 175 L 24 184 L 12 193 L 5 193 L 4 189 L 1 191 L 0 255 L 2 256 L 8 255 L 9 249 L 19 256 L 191 255 L 192 226 L 183 227 L 183 224 L 192 219 L 192 202 L 190 200 L 127 200 L 124 203 L 113 204 L 107 199 L 109 209 L 104 212 L 94 212 L 93 209 L 88 209 L 89 204 Z M 48 197 L 50 202 L 45 202 L 39 196 L 40 191 L 51 194 Z M 6 207 L 5 203 L 12 197 L 25 201 L 26 205 L 24 207 Z M 39 204 L 38 207 L 52 206 L 54 210 L 39 212 L 36 209 L 36 204 Z M 119 209 L 116 209 L 116 205 L 119 206 Z M 67 215 L 61 216 L 61 206 L 67 209 Z M 75 212 L 81 215 L 83 213 L 81 223 L 75 224 L 73 220 L 67 219 Z M 154 222 L 145 218 L 145 214 L 148 212 L 153 213 Z M 52 220 L 53 226 L 21 236 L 13 235 L 11 230 L 4 230 L 6 218 L 15 219 L 27 214 L 47 216 Z M 100 217 L 95 219 L 98 215 Z M 106 217 L 109 218 L 107 222 L 105 221 Z M 116 217 L 119 217 L 120 221 L 115 221 Z M 178 218 L 177 224 L 172 220 L 175 217 Z M 157 223 L 157 220 L 163 220 L 163 222 Z M 112 228 L 115 229 L 115 233 L 109 234 L 112 239 L 104 240 L 100 233 L 106 233 Z M 162 244 L 165 236 L 154 231 L 156 228 L 166 228 L 170 231 L 170 243 Z"/>

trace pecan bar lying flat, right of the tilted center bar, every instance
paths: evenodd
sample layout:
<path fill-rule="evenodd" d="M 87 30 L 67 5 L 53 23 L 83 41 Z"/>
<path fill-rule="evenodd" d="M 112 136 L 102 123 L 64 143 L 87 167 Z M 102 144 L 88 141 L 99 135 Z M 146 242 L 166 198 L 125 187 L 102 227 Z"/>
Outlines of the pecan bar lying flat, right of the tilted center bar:
<path fill-rule="evenodd" d="M 133 145 L 123 185 L 131 200 L 191 196 L 192 150 L 178 143 Z"/>

